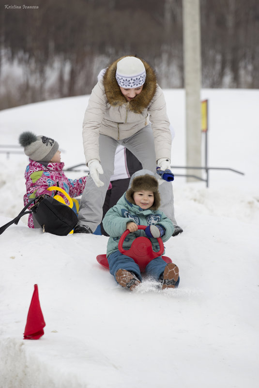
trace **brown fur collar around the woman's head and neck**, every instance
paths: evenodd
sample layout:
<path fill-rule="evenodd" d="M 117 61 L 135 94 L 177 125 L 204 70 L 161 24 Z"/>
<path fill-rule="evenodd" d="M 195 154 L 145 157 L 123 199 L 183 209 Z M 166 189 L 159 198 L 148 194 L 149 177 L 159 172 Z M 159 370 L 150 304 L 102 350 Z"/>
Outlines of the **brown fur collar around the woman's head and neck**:
<path fill-rule="evenodd" d="M 103 78 L 107 100 L 112 107 L 121 106 L 126 102 L 126 99 L 122 95 L 121 89 L 115 78 L 117 62 L 119 62 L 122 58 L 117 59 L 107 68 Z M 144 63 L 147 76 L 141 93 L 129 102 L 129 109 L 134 113 L 142 113 L 143 110 L 149 106 L 156 92 L 156 76 L 154 70 L 143 59 L 139 59 Z"/>

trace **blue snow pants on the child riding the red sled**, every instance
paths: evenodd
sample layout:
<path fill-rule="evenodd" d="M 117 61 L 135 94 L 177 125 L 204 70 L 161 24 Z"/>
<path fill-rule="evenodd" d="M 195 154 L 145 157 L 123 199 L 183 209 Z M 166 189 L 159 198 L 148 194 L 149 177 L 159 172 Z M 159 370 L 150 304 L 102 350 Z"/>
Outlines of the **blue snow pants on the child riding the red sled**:
<path fill-rule="evenodd" d="M 109 255 L 108 263 L 110 273 L 114 276 L 114 278 L 118 269 L 126 269 L 127 271 L 134 272 L 137 278 L 140 281 L 142 280 L 139 266 L 131 257 L 123 255 L 119 250 L 116 250 Z M 149 264 L 146 266 L 145 273 L 152 276 L 152 278 L 155 280 L 158 280 L 159 277 L 163 274 L 166 265 L 167 263 L 162 259 L 162 256 L 158 256 L 149 262 Z"/>

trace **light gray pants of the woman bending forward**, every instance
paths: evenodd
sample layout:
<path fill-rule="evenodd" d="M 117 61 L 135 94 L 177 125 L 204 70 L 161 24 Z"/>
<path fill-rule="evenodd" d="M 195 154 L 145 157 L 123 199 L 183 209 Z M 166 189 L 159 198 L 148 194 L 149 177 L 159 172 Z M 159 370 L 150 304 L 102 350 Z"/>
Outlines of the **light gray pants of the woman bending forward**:
<path fill-rule="evenodd" d="M 79 224 L 87 225 L 94 232 L 102 221 L 103 204 L 106 192 L 110 183 L 110 177 L 114 171 L 114 156 L 117 146 L 121 144 L 131 151 L 141 162 L 143 169 L 153 171 L 156 174 L 156 160 L 154 149 L 154 138 L 151 125 L 147 125 L 130 138 L 114 140 L 106 135 L 99 136 L 99 155 L 104 174 L 100 174 L 100 179 L 104 186 L 97 187 L 91 175 L 86 181 L 86 186 L 80 201 Z M 158 175 L 157 175 L 158 176 Z M 176 226 L 174 217 L 173 186 L 171 182 L 164 182 L 159 185 L 161 197 L 161 209 L 165 215 Z"/>

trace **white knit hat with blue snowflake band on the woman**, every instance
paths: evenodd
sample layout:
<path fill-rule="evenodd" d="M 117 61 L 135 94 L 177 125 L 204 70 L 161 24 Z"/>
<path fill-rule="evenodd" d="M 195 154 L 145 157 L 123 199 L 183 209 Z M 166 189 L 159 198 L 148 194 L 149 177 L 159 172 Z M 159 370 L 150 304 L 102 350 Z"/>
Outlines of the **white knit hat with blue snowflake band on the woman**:
<path fill-rule="evenodd" d="M 139 88 L 145 83 L 146 69 L 136 57 L 125 57 L 117 63 L 116 80 L 122 88 Z"/>

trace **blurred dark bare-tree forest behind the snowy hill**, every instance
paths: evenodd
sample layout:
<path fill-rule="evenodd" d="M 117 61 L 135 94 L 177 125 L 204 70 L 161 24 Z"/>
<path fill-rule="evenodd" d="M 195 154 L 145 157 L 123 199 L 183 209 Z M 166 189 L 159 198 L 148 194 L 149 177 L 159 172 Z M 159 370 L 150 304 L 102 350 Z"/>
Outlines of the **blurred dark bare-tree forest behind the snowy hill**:
<path fill-rule="evenodd" d="M 150 62 L 162 87 L 183 87 L 182 0 L 15 4 L 1 12 L 0 109 L 90 93 L 127 54 Z M 200 0 L 200 19 L 202 86 L 259 88 L 258 1 Z"/>

